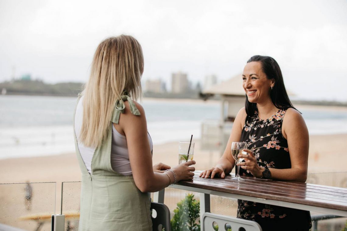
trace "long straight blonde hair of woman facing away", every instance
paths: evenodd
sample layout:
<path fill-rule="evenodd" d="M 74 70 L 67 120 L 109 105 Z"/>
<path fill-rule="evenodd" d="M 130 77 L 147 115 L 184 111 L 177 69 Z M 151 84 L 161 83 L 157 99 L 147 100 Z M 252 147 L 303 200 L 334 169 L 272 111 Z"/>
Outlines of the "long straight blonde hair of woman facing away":
<path fill-rule="evenodd" d="M 96 48 L 91 74 L 82 92 L 83 122 L 80 141 L 97 147 L 109 132 L 112 111 L 124 90 L 133 99 L 141 95 L 143 54 L 141 45 L 128 35 L 110 37 Z"/>

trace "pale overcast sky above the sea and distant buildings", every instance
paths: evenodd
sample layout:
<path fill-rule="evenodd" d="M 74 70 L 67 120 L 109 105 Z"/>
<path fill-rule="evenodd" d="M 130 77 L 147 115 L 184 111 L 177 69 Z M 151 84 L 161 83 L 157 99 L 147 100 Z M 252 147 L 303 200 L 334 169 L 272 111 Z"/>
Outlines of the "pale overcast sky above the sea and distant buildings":
<path fill-rule="evenodd" d="M 133 35 L 143 80 L 183 71 L 196 84 L 241 73 L 255 54 L 279 63 L 299 98 L 347 101 L 347 1 L 0 0 L 0 81 L 88 78 L 102 39 Z"/>

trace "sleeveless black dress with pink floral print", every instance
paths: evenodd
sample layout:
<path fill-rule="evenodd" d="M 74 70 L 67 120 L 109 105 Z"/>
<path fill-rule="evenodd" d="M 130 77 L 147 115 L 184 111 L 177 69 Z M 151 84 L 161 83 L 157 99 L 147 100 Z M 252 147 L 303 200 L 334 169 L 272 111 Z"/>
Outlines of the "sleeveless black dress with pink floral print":
<path fill-rule="evenodd" d="M 291 168 L 287 140 L 282 136 L 281 125 L 286 109 L 280 109 L 266 120 L 258 116 L 247 116 L 241 133 L 241 141 L 254 151 L 260 166 L 269 168 Z M 236 168 L 237 171 L 237 168 Z M 252 176 L 240 168 L 241 176 Z M 308 230 L 311 228 L 309 211 L 275 205 L 238 200 L 237 217 L 256 221 L 263 230 Z"/>

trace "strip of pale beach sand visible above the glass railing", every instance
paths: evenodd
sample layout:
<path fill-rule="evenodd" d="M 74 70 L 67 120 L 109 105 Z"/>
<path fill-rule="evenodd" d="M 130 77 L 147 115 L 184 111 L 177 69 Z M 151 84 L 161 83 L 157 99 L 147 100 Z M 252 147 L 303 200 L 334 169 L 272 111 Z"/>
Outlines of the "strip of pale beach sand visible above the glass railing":
<path fill-rule="evenodd" d="M 308 157 L 308 172 L 346 171 L 347 155 L 339 147 L 347 140 L 347 134 L 311 135 Z M 329 143 L 329 145 L 327 145 Z M 170 142 L 153 147 L 153 163 L 163 162 L 170 166 L 177 164 L 177 142 Z M 330 156 L 330 158 L 328 158 Z M 331 157 L 333 156 L 333 158 Z M 200 142 L 195 141 L 195 168 L 204 170 L 214 166 L 220 153 L 203 151 Z M 338 160 L 338 161 L 327 161 Z M 81 180 L 75 153 L 56 156 L 12 158 L 0 161 L 0 183 L 62 182 Z"/>

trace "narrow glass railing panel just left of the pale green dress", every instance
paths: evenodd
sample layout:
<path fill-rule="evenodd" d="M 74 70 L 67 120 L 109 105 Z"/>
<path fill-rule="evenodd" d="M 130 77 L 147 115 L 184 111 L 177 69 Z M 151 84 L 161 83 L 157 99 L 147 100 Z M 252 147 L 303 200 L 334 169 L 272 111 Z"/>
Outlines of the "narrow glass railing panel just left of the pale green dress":
<path fill-rule="evenodd" d="M 65 230 L 78 230 L 81 181 L 63 182 L 61 186 L 61 214 L 65 215 Z"/>

